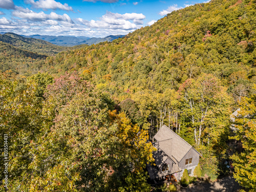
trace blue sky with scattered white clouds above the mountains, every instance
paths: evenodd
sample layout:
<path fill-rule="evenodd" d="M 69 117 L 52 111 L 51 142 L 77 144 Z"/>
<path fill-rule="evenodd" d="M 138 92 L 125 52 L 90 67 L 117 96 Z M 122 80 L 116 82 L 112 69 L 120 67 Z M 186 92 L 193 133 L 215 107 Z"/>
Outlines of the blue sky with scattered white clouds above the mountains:
<path fill-rule="evenodd" d="M 104 37 L 152 25 L 205 0 L 0 0 L 0 32 Z"/>

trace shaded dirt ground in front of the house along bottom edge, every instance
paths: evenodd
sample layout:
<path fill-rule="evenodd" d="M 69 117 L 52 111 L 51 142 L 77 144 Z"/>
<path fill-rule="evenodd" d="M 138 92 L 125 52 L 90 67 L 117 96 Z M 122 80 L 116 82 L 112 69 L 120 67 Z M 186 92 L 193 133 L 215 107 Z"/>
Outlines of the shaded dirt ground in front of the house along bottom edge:
<path fill-rule="evenodd" d="M 215 192 L 215 191 L 222 191 L 222 192 L 236 192 L 240 188 L 242 188 L 233 177 L 228 176 L 222 179 L 219 179 L 215 182 L 210 183 L 196 183 L 196 185 L 189 185 L 186 188 L 181 188 L 180 192 L 196 192 L 196 191 L 203 191 L 203 192 Z"/>

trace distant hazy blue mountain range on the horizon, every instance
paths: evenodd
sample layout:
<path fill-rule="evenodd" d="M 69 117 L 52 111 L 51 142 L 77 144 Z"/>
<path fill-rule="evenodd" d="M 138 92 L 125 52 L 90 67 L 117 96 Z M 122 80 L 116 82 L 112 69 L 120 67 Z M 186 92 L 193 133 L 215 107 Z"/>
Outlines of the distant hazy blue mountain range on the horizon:
<path fill-rule="evenodd" d="M 58 46 L 77 46 L 77 45 L 82 45 L 82 44 L 87 44 L 87 45 L 92 45 L 92 44 L 98 44 L 99 42 L 103 41 L 112 41 L 114 39 L 117 39 L 119 37 L 123 37 L 124 35 L 109 35 L 103 38 L 96 38 L 96 37 L 86 37 L 86 36 L 51 36 L 51 35 L 30 35 L 30 36 L 25 36 L 27 38 L 36 38 L 36 39 L 41 39 L 45 40 L 48 42 L 51 42 L 54 45 Z"/>

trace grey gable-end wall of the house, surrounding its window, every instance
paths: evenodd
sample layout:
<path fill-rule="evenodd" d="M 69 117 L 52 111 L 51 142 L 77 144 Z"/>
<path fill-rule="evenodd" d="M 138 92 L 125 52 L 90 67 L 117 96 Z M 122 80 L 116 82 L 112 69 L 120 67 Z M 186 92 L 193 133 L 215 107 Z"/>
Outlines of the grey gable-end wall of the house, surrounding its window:
<path fill-rule="evenodd" d="M 192 158 L 191 164 L 185 164 L 186 159 Z M 190 167 L 197 166 L 199 163 L 199 154 L 194 150 L 194 148 L 191 148 L 187 154 L 183 157 L 183 159 L 179 162 L 179 167 L 181 169 L 190 169 Z"/>

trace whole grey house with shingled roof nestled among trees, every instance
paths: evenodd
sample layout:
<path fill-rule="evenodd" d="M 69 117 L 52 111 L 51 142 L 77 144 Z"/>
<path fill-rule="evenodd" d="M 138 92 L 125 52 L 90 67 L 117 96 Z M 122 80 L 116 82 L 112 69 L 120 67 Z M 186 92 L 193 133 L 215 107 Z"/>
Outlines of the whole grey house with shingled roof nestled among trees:
<path fill-rule="evenodd" d="M 193 175 L 202 156 L 194 147 L 165 125 L 154 136 L 154 140 L 153 146 L 157 148 L 153 153 L 155 163 L 147 164 L 152 181 L 160 182 L 170 178 L 180 180 L 185 168 L 189 175 Z"/>

